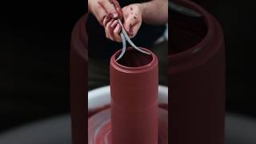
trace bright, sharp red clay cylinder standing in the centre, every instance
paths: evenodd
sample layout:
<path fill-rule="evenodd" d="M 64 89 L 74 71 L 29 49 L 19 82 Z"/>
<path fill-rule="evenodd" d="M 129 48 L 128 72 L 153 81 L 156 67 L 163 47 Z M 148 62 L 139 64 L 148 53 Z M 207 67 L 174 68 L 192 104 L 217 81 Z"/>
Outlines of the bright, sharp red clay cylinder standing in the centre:
<path fill-rule="evenodd" d="M 128 49 L 116 62 L 118 54 L 110 59 L 112 142 L 158 144 L 158 58 Z"/>

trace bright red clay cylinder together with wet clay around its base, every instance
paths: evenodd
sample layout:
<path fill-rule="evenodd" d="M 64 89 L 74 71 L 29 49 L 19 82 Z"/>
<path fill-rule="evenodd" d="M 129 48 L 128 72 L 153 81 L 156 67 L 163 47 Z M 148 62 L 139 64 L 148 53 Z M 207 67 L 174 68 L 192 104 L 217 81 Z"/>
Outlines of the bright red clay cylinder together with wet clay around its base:
<path fill-rule="evenodd" d="M 129 48 L 117 62 L 120 52 L 110 59 L 110 108 L 89 118 L 88 143 L 167 144 L 168 111 L 158 107 L 158 58 Z"/>

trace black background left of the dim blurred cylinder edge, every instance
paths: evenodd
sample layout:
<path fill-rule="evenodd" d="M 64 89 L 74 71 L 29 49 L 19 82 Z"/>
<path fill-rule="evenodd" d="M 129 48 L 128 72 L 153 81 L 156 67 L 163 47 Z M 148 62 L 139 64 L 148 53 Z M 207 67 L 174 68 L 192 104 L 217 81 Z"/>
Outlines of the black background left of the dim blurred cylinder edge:
<path fill-rule="evenodd" d="M 70 35 L 86 4 L 0 4 L 0 131 L 70 111 Z"/>

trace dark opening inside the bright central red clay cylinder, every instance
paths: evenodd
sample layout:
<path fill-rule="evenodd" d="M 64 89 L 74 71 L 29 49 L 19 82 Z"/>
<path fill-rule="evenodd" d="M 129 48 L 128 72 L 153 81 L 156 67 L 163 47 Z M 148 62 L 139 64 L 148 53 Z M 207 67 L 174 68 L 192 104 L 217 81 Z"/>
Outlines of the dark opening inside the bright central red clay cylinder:
<path fill-rule="evenodd" d="M 121 53 L 121 52 L 120 52 Z M 116 58 L 118 58 L 118 55 L 116 54 Z M 143 54 L 139 52 L 138 50 L 129 48 L 126 50 L 126 54 L 118 60 L 118 64 L 126 67 L 140 67 L 140 66 L 146 66 L 153 60 L 152 54 Z"/>

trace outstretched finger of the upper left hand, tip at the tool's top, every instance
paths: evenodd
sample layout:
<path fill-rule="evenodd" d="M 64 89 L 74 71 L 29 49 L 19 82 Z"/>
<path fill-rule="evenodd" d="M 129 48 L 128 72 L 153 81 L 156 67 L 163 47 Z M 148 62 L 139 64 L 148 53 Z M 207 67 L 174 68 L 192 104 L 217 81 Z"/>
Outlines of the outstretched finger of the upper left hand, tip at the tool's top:
<path fill-rule="evenodd" d="M 113 18 L 118 18 L 118 12 L 115 7 L 108 0 L 99 0 L 99 4 L 104 8 L 107 14 L 112 14 Z"/>

